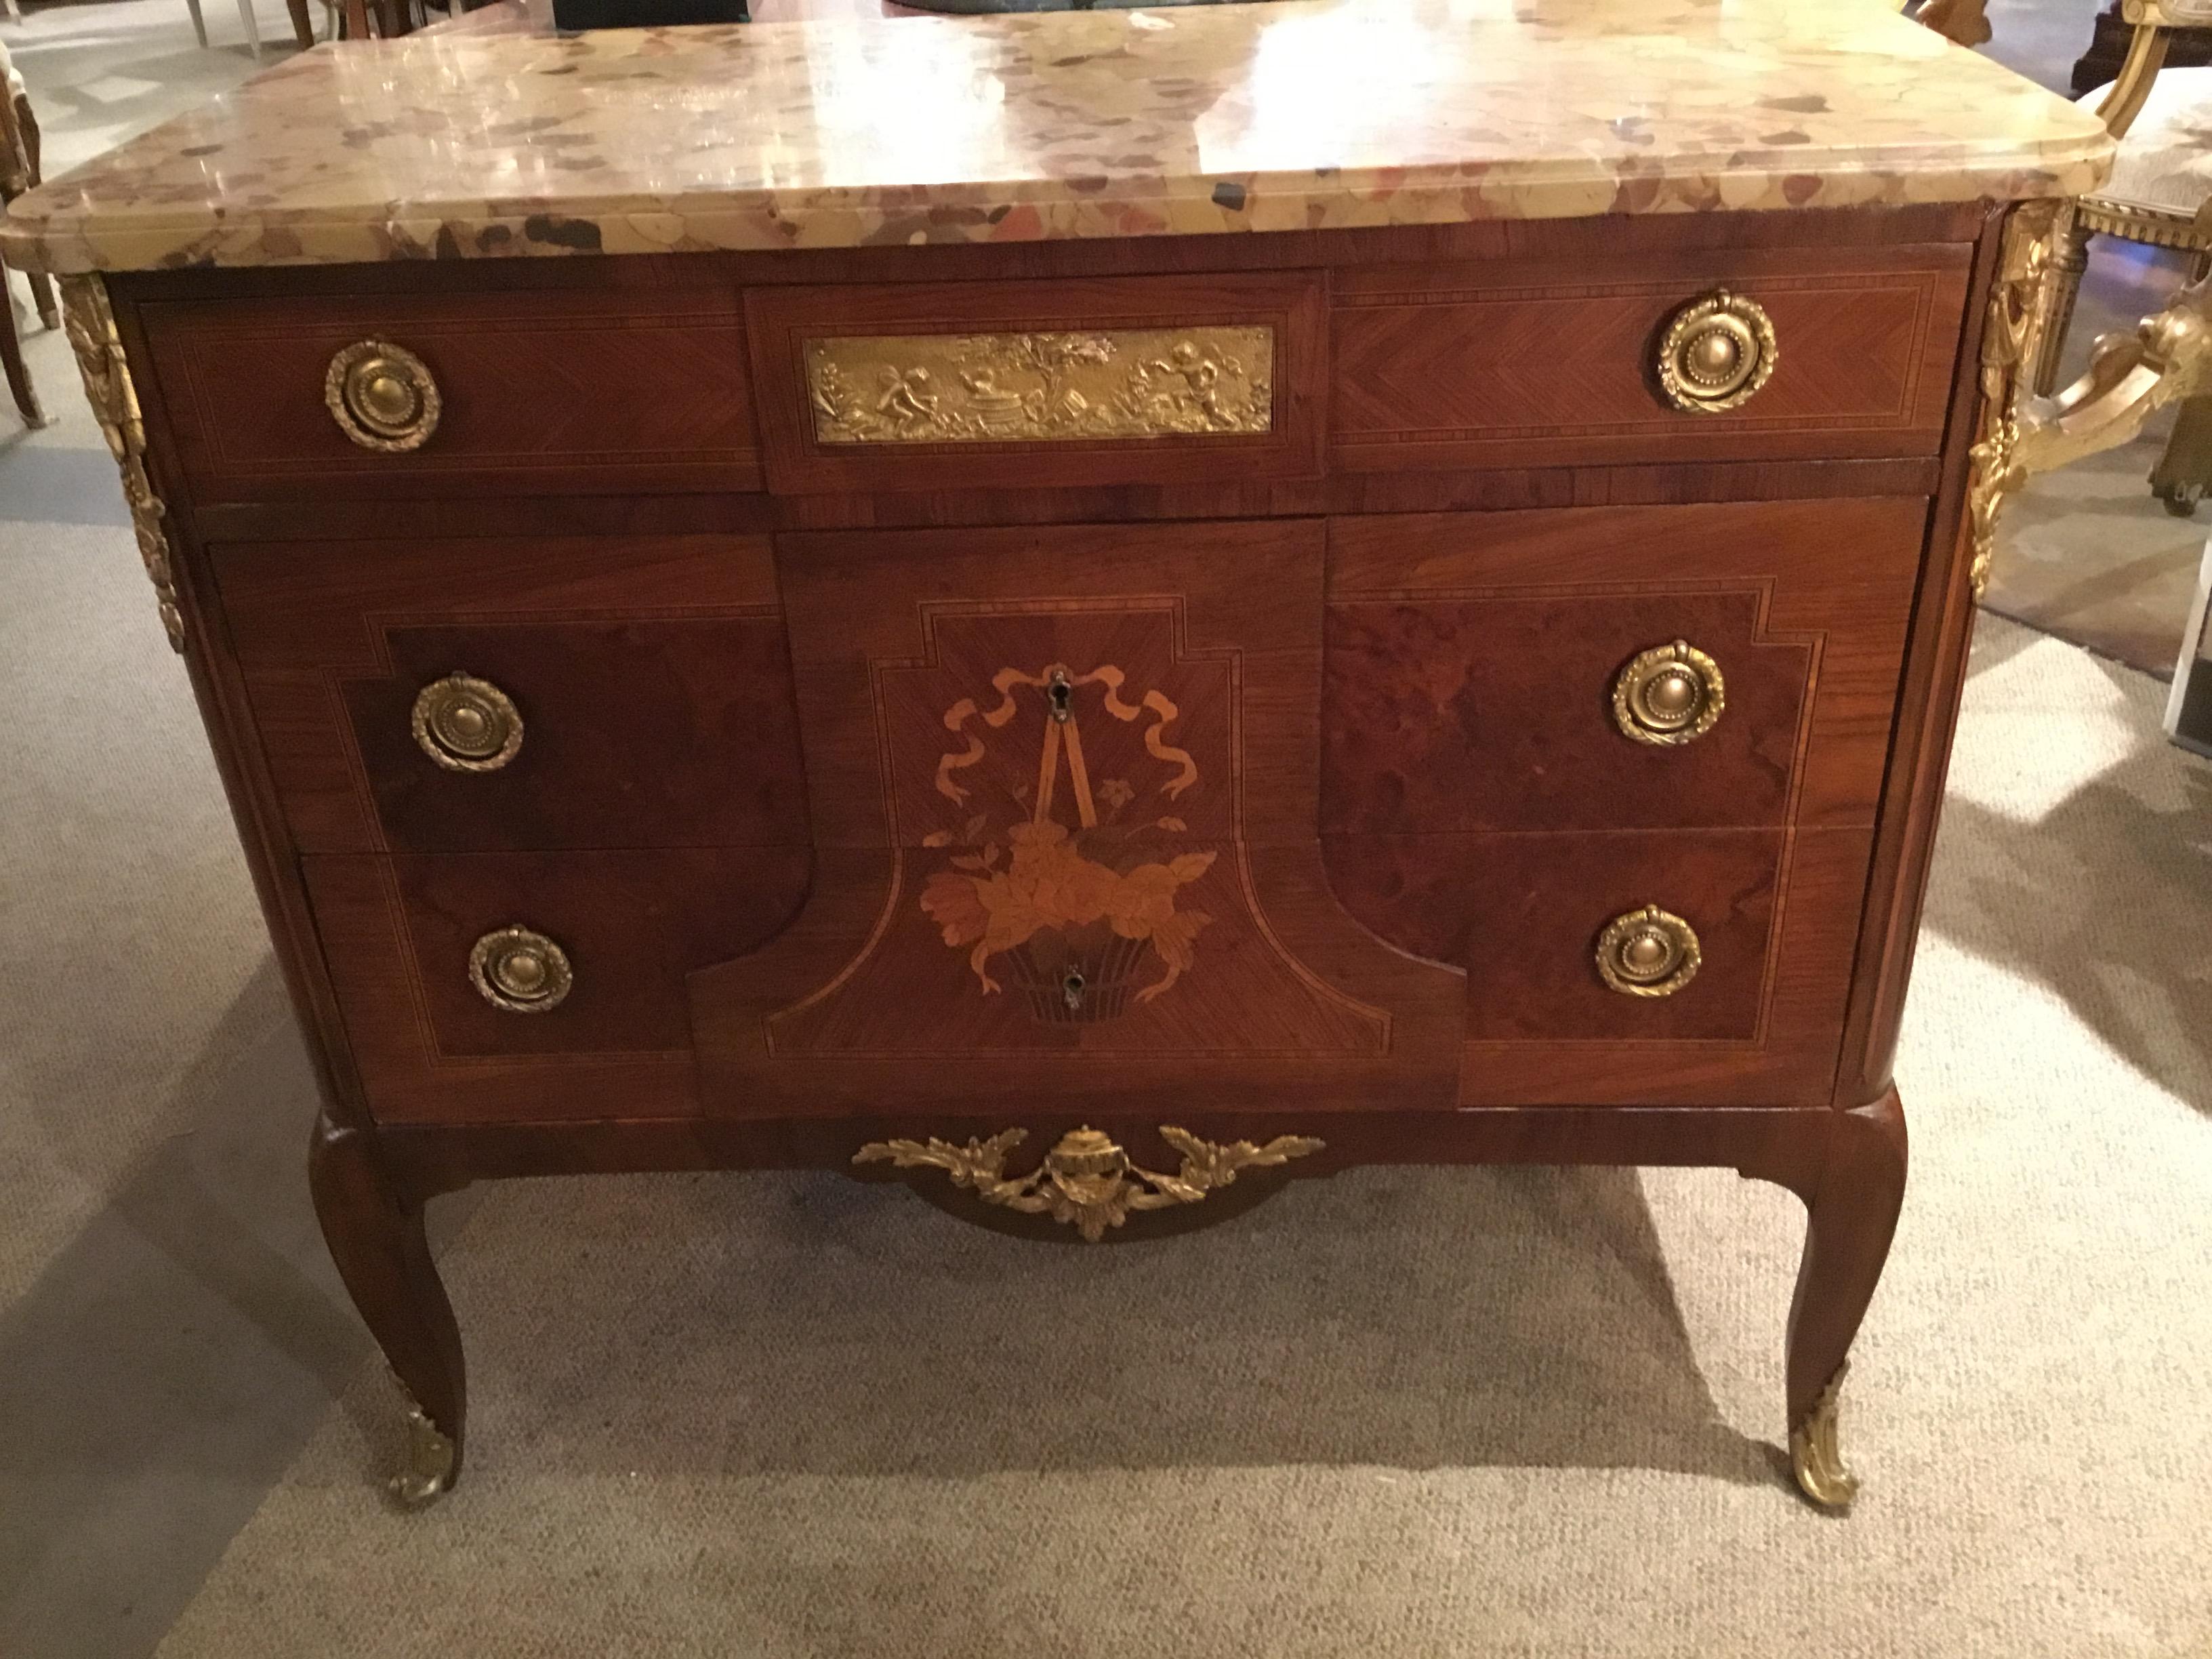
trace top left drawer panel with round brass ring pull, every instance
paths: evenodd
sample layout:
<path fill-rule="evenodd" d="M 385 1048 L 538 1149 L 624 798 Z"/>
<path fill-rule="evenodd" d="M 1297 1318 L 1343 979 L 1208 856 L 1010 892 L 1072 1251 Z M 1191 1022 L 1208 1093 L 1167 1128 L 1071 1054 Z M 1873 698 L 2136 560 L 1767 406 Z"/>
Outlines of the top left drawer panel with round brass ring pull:
<path fill-rule="evenodd" d="M 619 312 L 509 290 L 142 316 L 201 502 L 761 487 L 734 288 L 628 290 Z"/>

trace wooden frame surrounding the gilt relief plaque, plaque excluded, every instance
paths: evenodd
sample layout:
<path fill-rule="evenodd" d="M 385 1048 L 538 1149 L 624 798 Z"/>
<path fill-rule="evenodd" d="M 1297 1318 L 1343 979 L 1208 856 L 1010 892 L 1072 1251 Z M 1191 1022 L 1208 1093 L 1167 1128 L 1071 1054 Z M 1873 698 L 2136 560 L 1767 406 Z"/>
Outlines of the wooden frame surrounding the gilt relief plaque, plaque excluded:
<path fill-rule="evenodd" d="M 761 445 L 779 493 L 1177 484 L 1234 473 L 1318 478 L 1327 345 L 1318 272 L 1091 276 L 1053 283 L 754 288 L 745 294 Z M 960 445 L 823 445 L 805 383 L 805 343 L 865 334 L 1104 330 L 1274 330 L 1267 434 Z"/>

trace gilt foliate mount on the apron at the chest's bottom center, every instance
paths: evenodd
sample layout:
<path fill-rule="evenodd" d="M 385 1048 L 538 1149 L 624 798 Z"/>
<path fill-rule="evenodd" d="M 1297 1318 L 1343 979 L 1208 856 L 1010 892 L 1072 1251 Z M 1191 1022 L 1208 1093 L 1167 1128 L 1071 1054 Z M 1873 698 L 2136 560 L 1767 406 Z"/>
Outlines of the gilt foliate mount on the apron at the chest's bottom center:
<path fill-rule="evenodd" d="M 1252 1141 L 1217 1146 L 1186 1128 L 1161 1126 L 1159 1139 L 1183 1155 L 1183 1166 L 1175 1175 L 1159 1175 L 1137 1168 L 1110 1135 L 1077 1128 L 1062 1135 L 1029 1175 L 1006 1175 L 1006 1157 L 1024 1139 L 1026 1130 L 1009 1128 L 964 1146 L 936 1137 L 869 1141 L 852 1155 L 852 1161 L 945 1170 L 956 1188 L 975 1192 L 984 1203 L 1051 1217 L 1075 1228 L 1084 1241 L 1097 1243 L 1108 1228 L 1119 1228 L 1137 1210 L 1199 1203 L 1208 1192 L 1230 1186 L 1239 1170 L 1287 1164 L 1321 1150 L 1321 1141 L 1312 1135 L 1276 1135 L 1265 1146 Z"/>

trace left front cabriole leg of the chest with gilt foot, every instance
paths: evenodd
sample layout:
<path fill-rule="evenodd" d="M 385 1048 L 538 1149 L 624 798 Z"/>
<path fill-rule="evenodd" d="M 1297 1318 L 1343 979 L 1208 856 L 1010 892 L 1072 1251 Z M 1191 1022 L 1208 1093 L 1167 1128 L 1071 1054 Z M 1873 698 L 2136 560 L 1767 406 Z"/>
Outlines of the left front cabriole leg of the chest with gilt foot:
<path fill-rule="evenodd" d="M 372 1130 L 316 1119 L 307 1186 L 338 1276 L 414 1400 L 407 1467 L 392 1495 L 416 1509 L 460 1478 L 469 1409 L 460 1327 L 422 1232 L 422 1199 L 403 1190 L 376 1157 Z"/>

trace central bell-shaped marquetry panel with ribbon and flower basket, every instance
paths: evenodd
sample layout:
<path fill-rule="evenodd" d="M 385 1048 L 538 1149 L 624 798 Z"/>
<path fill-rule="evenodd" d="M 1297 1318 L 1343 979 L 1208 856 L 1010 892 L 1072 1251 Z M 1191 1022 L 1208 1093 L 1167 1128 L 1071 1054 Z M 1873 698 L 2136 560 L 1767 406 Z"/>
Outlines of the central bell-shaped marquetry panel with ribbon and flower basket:
<path fill-rule="evenodd" d="M 692 975 L 708 1110 L 1449 1102 L 1460 975 L 1321 869 L 1323 553 L 1312 520 L 783 538 L 821 860 Z"/>

